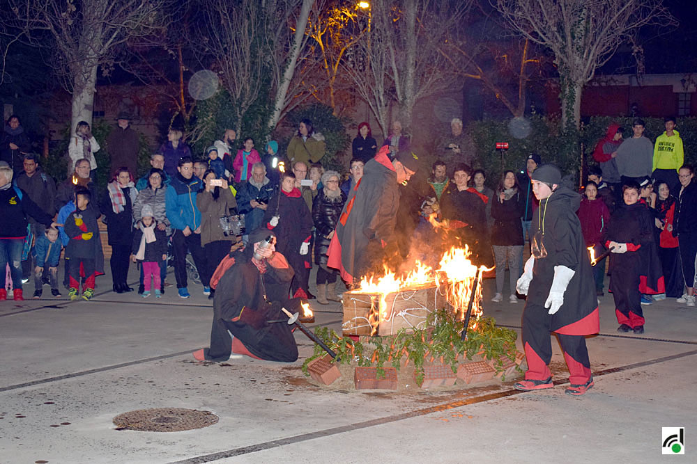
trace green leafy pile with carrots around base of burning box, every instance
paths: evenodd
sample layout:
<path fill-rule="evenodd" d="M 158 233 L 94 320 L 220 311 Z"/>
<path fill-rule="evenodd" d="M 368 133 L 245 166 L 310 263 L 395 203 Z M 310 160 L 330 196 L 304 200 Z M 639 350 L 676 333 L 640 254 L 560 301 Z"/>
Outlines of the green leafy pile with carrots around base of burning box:
<path fill-rule="evenodd" d="M 426 329 L 414 330 L 413 333 L 401 329 L 396 335 L 371 337 L 369 345 L 350 337 L 340 337 L 326 327 L 315 328 L 315 335 L 337 353 L 338 362 L 376 367 L 378 378 L 385 374 L 385 363 L 399 370 L 402 362 L 412 362 L 418 383 L 423 381 L 425 362 L 438 360 L 457 372 L 461 355 L 469 360 L 475 354 L 489 360 L 498 360 L 502 356 L 515 359 L 518 335 L 514 330 L 497 327 L 493 318 L 485 317 L 477 321 L 477 328 L 467 330 L 467 339 L 462 341 L 462 327 L 463 322 L 455 319 L 452 312 L 438 310 L 430 315 Z M 306 376 L 309 375 L 309 362 L 325 354 L 321 346 L 314 346 L 313 355 L 302 365 Z M 502 370 L 500 365 L 494 368 Z"/>

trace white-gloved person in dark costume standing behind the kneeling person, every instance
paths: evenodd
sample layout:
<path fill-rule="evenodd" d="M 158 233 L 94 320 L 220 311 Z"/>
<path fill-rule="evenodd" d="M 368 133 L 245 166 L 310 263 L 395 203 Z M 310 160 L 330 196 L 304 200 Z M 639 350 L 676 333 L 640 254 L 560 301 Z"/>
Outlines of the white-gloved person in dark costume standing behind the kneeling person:
<path fill-rule="evenodd" d="M 294 297 L 314 298 L 307 288 L 307 277 L 312 267 L 309 241 L 312 237 L 312 214 L 295 186 L 296 176 L 283 173 L 281 189 L 268 202 L 263 225 L 276 234 L 276 250 L 282 253 L 295 271 L 291 282 Z M 253 231 L 247 231 L 253 232 Z"/>

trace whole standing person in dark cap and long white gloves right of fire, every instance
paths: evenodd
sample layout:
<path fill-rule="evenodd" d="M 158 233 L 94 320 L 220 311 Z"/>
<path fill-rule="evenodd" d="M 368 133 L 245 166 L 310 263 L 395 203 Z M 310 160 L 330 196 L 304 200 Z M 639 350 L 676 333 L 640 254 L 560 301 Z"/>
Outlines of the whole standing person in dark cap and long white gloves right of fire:
<path fill-rule="evenodd" d="M 551 333 L 556 333 L 569 368 L 567 394 L 585 394 L 593 385 L 584 335 L 599 331 L 595 280 L 576 216 L 581 195 L 561 185 L 560 170 L 539 166 L 532 175 L 539 208 L 533 215 L 530 244 L 533 255 L 525 264 L 516 289 L 527 295 L 523 310 L 523 349 L 528 361 L 525 380 L 517 390 L 553 387 L 549 362 Z"/>

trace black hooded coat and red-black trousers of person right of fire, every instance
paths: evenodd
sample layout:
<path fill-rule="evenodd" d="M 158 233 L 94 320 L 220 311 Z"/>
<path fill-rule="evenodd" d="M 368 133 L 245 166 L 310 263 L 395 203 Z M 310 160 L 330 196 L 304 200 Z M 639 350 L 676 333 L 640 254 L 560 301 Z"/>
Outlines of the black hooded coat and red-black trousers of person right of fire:
<path fill-rule="evenodd" d="M 576 216 L 581 195 L 559 186 L 539 202 L 530 228 L 533 237 L 542 241 L 546 256 L 536 257 L 533 280 L 523 310 L 523 346 L 528 360 L 526 380 L 544 381 L 551 377 L 551 332 L 558 335 L 569 368 L 572 385 L 583 385 L 591 376 L 585 337 L 599 332 L 600 320 L 595 278 Z M 564 303 L 555 314 L 549 314 L 544 303 L 554 279 L 554 266 L 574 271 L 564 292 Z"/>

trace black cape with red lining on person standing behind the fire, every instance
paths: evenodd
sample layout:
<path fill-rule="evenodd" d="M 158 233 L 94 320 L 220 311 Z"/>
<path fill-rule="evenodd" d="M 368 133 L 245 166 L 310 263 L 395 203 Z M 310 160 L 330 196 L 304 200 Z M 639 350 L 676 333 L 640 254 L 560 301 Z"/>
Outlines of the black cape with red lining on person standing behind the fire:
<path fill-rule="evenodd" d="M 328 266 L 339 269 L 346 282 L 368 271 L 373 258 L 369 246 L 381 250 L 395 233 L 399 189 L 389 152 L 389 147 L 382 147 L 365 163 L 363 177 L 348 193 L 329 245 Z"/>

